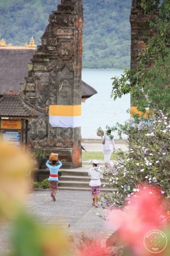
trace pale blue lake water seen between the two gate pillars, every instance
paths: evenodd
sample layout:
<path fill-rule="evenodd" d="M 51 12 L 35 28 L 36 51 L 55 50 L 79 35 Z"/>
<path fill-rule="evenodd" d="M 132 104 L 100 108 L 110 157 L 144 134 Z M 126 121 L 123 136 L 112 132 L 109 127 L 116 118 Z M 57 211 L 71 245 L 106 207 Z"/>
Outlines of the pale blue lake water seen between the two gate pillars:
<path fill-rule="evenodd" d="M 106 130 L 106 125 L 124 124 L 130 118 L 130 94 L 113 100 L 111 98 L 112 77 L 120 76 L 123 70 L 82 70 L 82 80 L 95 88 L 97 94 L 81 104 L 81 136 L 86 139 L 100 139 L 97 128 Z M 118 138 L 117 132 L 113 133 Z M 124 136 L 126 138 L 126 136 Z"/>

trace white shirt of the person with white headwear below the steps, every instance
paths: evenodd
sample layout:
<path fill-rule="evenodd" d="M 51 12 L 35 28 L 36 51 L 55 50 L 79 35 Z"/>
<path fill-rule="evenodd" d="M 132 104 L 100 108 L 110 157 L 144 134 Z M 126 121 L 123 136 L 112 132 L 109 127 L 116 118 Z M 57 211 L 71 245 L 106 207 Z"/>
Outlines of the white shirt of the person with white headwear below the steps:
<path fill-rule="evenodd" d="M 103 178 L 103 174 L 100 167 L 90 168 L 88 174 L 91 176 L 90 186 L 96 187 L 101 185 L 100 178 Z"/>

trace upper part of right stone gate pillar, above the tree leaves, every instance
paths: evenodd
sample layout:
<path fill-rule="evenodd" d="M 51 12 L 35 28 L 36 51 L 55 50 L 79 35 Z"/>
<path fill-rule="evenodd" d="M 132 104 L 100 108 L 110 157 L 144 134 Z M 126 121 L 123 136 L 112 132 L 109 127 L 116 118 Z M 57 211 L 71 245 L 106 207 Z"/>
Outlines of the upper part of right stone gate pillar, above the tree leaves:
<path fill-rule="evenodd" d="M 144 14 L 140 4 L 141 0 L 132 0 L 130 25 L 131 25 L 131 62 L 130 68 L 138 68 L 140 52 L 145 49 L 148 39 L 156 33 L 149 28 L 149 22 L 156 22 L 158 13 Z"/>

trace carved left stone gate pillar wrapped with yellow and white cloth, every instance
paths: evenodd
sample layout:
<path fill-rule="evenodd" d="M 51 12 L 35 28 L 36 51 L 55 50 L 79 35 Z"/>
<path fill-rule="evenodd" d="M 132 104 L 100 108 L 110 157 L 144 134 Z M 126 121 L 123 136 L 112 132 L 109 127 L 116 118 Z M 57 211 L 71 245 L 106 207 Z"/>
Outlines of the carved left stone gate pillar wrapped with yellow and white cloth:
<path fill-rule="evenodd" d="M 30 140 L 40 140 L 49 153 L 58 152 L 66 168 L 81 166 L 82 28 L 82 0 L 61 0 L 49 15 L 42 45 L 28 65 L 22 94 L 30 103 L 49 108 L 30 126 Z M 51 116 L 54 122 L 49 124 Z M 71 124 L 67 126 L 65 119 Z"/>

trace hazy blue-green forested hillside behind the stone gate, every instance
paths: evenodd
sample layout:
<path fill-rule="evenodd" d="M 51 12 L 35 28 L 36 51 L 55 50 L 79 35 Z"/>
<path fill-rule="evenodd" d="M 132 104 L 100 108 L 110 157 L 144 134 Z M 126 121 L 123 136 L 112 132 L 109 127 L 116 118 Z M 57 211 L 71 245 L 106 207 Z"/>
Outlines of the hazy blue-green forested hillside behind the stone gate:
<path fill-rule="evenodd" d="M 83 0 L 83 68 L 129 68 L 132 0 Z M 0 0 L 0 40 L 37 45 L 59 0 Z"/>

